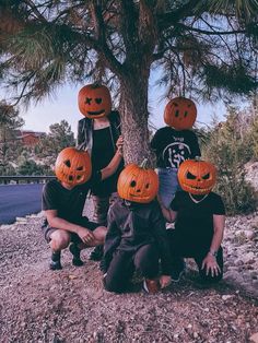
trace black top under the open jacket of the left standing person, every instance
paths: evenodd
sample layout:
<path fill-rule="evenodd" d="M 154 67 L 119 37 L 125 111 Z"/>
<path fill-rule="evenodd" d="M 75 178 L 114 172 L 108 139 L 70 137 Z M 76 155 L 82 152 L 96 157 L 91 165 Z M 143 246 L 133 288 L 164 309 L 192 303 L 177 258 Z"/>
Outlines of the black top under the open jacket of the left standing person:
<path fill-rule="evenodd" d="M 101 170 L 106 167 L 116 152 L 116 142 L 113 141 L 110 127 L 93 130 L 93 146 L 92 146 L 92 167 L 93 170 Z M 117 179 L 121 170 L 119 166 L 117 172 L 101 184 L 92 187 L 93 194 L 108 196 L 117 189 Z"/>

